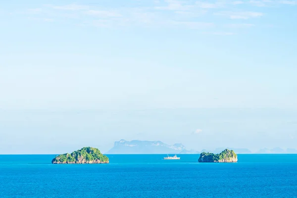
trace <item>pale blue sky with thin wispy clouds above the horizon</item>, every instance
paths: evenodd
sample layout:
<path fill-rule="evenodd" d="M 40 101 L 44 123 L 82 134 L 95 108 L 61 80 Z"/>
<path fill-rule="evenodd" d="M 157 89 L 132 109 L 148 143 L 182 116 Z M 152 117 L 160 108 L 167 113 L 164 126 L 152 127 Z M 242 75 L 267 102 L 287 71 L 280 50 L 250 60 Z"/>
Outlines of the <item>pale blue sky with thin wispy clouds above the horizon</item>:
<path fill-rule="evenodd" d="M 0 153 L 297 148 L 297 0 L 0 5 Z"/>

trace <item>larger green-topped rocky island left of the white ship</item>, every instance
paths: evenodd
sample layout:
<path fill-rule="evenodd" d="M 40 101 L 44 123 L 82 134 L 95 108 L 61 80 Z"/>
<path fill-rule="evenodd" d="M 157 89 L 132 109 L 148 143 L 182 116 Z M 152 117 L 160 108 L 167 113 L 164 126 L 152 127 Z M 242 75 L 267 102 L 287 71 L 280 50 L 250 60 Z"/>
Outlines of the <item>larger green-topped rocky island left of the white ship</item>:
<path fill-rule="evenodd" d="M 84 147 L 73 151 L 71 154 L 61 154 L 52 159 L 53 164 L 103 164 L 109 163 L 106 155 L 98 148 Z"/>

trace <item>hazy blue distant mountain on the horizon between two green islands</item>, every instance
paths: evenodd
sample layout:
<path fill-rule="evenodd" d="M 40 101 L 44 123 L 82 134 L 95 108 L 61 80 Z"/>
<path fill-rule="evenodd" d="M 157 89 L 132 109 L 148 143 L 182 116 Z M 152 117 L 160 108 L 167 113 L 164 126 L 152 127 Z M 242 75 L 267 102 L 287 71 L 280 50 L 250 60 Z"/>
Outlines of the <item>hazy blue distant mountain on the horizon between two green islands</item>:
<path fill-rule="evenodd" d="M 106 154 L 179 154 L 186 148 L 182 144 L 167 145 L 161 141 L 126 141 L 114 143 Z"/>

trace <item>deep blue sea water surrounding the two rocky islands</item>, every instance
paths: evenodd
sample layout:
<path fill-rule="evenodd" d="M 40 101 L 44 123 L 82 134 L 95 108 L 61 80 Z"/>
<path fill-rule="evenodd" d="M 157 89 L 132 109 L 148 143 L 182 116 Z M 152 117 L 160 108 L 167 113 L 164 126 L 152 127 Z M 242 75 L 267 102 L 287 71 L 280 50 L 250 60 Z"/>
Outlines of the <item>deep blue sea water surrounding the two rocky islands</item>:
<path fill-rule="evenodd" d="M 54 155 L 0 155 L 0 198 L 297 198 L 297 154 L 108 155 L 109 164 L 51 164 Z"/>

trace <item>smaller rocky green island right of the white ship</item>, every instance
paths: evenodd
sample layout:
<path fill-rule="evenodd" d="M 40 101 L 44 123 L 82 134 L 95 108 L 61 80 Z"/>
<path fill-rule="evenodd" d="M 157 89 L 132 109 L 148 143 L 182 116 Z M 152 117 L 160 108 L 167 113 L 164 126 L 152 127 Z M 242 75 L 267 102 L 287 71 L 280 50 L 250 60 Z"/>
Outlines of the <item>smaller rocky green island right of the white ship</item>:
<path fill-rule="evenodd" d="M 225 149 L 219 154 L 202 152 L 198 162 L 237 162 L 237 154 L 234 150 Z"/>

